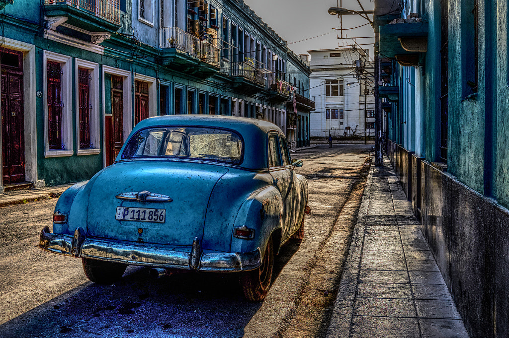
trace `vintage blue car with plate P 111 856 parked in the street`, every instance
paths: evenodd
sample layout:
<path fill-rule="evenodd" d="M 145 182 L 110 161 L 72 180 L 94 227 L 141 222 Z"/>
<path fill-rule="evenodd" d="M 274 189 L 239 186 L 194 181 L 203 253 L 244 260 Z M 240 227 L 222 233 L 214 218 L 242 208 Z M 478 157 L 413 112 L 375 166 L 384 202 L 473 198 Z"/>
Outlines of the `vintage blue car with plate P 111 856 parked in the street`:
<path fill-rule="evenodd" d="M 136 125 L 113 165 L 67 189 L 40 248 L 80 257 L 111 284 L 127 265 L 238 271 L 244 295 L 267 294 L 274 255 L 304 235 L 308 188 L 287 140 L 256 119 L 172 115 Z"/>

